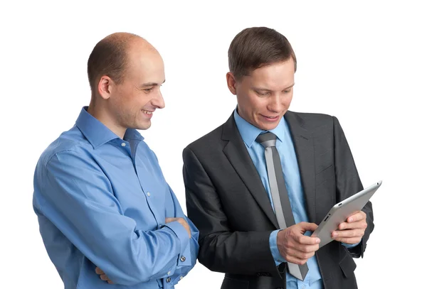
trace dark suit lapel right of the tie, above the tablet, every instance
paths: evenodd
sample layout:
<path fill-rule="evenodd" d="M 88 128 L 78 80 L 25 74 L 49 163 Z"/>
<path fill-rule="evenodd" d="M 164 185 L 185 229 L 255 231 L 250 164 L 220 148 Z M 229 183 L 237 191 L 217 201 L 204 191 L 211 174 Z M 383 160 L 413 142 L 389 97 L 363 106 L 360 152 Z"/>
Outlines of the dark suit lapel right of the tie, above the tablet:
<path fill-rule="evenodd" d="M 302 189 L 307 203 L 307 212 L 310 222 L 315 222 L 316 195 L 315 195 L 315 148 L 310 131 L 304 128 L 304 120 L 293 111 L 287 111 L 285 119 L 288 122 L 292 141 L 297 155 Z"/>

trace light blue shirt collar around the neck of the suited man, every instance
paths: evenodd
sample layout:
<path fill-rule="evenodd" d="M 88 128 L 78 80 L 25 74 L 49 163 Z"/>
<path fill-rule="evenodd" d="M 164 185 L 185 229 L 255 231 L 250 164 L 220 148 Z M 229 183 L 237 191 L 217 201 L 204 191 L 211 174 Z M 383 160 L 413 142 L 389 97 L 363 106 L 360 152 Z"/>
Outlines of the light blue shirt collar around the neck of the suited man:
<path fill-rule="evenodd" d="M 258 127 L 248 123 L 248 121 L 239 116 L 237 108 L 234 109 L 234 120 L 236 121 L 237 129 L 241 133 L 243 141 L 249 148 L 252 147 L 253 142 L 260 135 L 260 133 L 265 132 L 262 129 L 258 129 Z M 278 137 L 279 141 L 283 141 L 285 138 L 285 129 L 285 118 L 282 118 L 280 119 L 278 126 L 276 126 L 274 129 L 271 129 L 270 132 L 274 133 L 275 136 Z"/>

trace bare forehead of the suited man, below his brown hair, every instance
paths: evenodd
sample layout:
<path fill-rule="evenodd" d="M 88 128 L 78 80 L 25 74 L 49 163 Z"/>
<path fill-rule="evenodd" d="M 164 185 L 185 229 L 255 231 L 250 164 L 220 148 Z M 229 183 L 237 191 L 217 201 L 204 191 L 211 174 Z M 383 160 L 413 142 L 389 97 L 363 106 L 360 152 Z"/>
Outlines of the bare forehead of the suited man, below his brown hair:
<path fill-rule="evenodd" d="M 253 70 L 248 80 L 251 85 L 266 89 L 283 89 L 294 83 L 295 65 L 292 59 L 276 62 Z"/>

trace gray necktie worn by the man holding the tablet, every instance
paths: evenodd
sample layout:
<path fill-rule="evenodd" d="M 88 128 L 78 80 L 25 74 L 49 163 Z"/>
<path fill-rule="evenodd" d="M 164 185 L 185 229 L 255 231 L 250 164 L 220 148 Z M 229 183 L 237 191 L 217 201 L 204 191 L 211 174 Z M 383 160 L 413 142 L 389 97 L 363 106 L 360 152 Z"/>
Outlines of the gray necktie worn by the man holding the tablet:
<path fill-rule="evenodd" d="M 267 163 L 268 183 L 270 185 L 271 197 L 276 218 L 278 219 L 280 229 L 286 229 L 295 225 L 295 219 L 290 207 L 288 190 L 286 190 L 285 178 L 283 178 L 282 165 L 278 149 L 275 147 L 276 136 L 274 133 L 262 133 L 256 138 L 256 141 L 265 148 L 265 163 Z M 288 270 L 292 276 L 304 280 L 308 272 L 307 263 L 297 265 L 288 262 Z"/>

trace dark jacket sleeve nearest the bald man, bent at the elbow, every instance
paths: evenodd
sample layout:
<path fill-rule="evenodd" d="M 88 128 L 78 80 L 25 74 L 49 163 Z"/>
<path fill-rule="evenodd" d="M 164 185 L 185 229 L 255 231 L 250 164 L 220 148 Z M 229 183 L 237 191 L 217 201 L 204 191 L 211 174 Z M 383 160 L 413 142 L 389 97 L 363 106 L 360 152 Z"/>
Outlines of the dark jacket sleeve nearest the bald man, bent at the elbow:
<path fill-rule="evenodd" d="M 278 276 L 270 251 L 272 231 L 234 231 L 228 224 L 216 188 L 189 148 L 183 152 L 186 209 L 200 230 L 199 262 L 211 271 Z"/>

